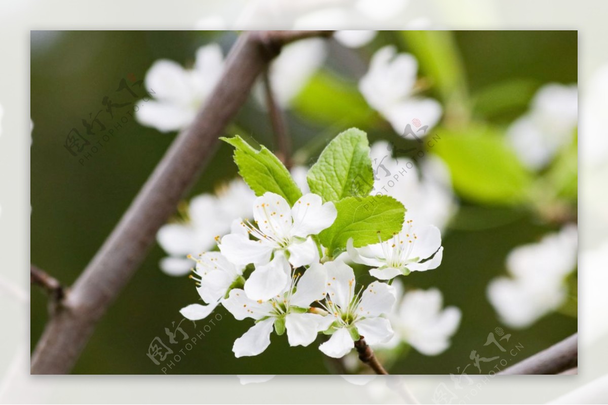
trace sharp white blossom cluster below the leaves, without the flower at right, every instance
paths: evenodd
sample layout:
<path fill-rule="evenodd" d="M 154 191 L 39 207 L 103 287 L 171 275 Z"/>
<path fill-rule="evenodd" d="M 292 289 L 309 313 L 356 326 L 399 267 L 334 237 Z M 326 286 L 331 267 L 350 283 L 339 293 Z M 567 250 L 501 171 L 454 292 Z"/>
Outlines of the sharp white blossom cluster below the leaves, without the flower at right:
<path fill-rule="evenodd" d="M 331 334 L 319 349 L 333 357 L 348 353 L 360 336 L 369 344 L 392 338 L 390 322 L 381 315 L 395 303 L 394 287 L 376 281 L 356 290 L 350 266 L 341 260 L 320 263 L 323 247 L 315 236 L 334 223 L 333 202 L 308 193 L 290 207 L 267 192 L 255 199 L 253 212 L 254 221 L 232 224 L 219 240 L 220 252 L 196 258 L 192 278 L 206 305 L 191 304 L 182 315 L 201 320 L 221 303 L 237 320 L 255 320 L 235 341 L 237 357 L 263 352 L 273 329 L 286 332 L 291 346 L 308 346 L 319 332 Z M 245 279 L 249 264 L 254 269 Z"/>

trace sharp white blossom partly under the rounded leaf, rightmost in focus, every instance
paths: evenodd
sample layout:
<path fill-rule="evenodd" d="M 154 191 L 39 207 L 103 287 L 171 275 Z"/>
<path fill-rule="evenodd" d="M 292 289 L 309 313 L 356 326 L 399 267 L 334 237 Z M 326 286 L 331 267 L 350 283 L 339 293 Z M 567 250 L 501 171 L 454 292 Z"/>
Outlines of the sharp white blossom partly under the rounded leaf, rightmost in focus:
<path fill-rule="evenodd" d="M 401 232 L 387 241 L 355 248 L 349 239 L 347 250 L 355 263 L 375 267 L 370 274 L 381 280 L 437 269 L 443 258 L 439 229 L 432 225 L 415 227 L 412 219 L 407 219 Z"/>

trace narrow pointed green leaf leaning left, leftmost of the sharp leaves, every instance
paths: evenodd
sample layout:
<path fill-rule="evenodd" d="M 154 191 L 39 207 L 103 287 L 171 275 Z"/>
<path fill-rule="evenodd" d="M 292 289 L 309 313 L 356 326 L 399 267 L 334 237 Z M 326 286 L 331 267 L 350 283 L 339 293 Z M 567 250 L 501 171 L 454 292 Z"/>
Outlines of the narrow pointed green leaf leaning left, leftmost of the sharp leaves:
<path fill-rule="evenodd" d="M 234 138 L 219 139 L 235 147 L 234 161 L 238 166 L 238 173 L 254 190 L 255 195 L 276 193 L 285 198 L 291 206 L 302 196 L 302 191 L 283 163 L 266 147 L 255 150 L 238 135 Z"/>

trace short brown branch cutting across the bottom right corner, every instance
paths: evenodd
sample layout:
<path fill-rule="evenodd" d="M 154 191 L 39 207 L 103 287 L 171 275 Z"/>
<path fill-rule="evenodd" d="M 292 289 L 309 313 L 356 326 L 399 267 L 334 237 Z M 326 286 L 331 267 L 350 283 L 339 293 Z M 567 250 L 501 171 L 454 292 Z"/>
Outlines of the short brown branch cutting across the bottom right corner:
<path fill-rule="evenodd" d="M 558 374 L 578 365 L 578 334 L 514 364 L 499 374 Z"/>

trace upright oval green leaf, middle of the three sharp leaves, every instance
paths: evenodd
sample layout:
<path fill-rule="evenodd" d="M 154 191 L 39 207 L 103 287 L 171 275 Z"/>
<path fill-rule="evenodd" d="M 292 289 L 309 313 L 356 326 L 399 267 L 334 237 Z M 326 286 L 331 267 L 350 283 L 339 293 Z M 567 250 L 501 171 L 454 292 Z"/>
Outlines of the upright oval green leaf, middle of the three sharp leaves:
<path fill-rule="evenodd" d="M 311 193 L 322 196 L 323 201 L 368 195 L 374 177 L 365 132 L 351 128 L 336 136 L 308 171 L 307 179 Z"/>

